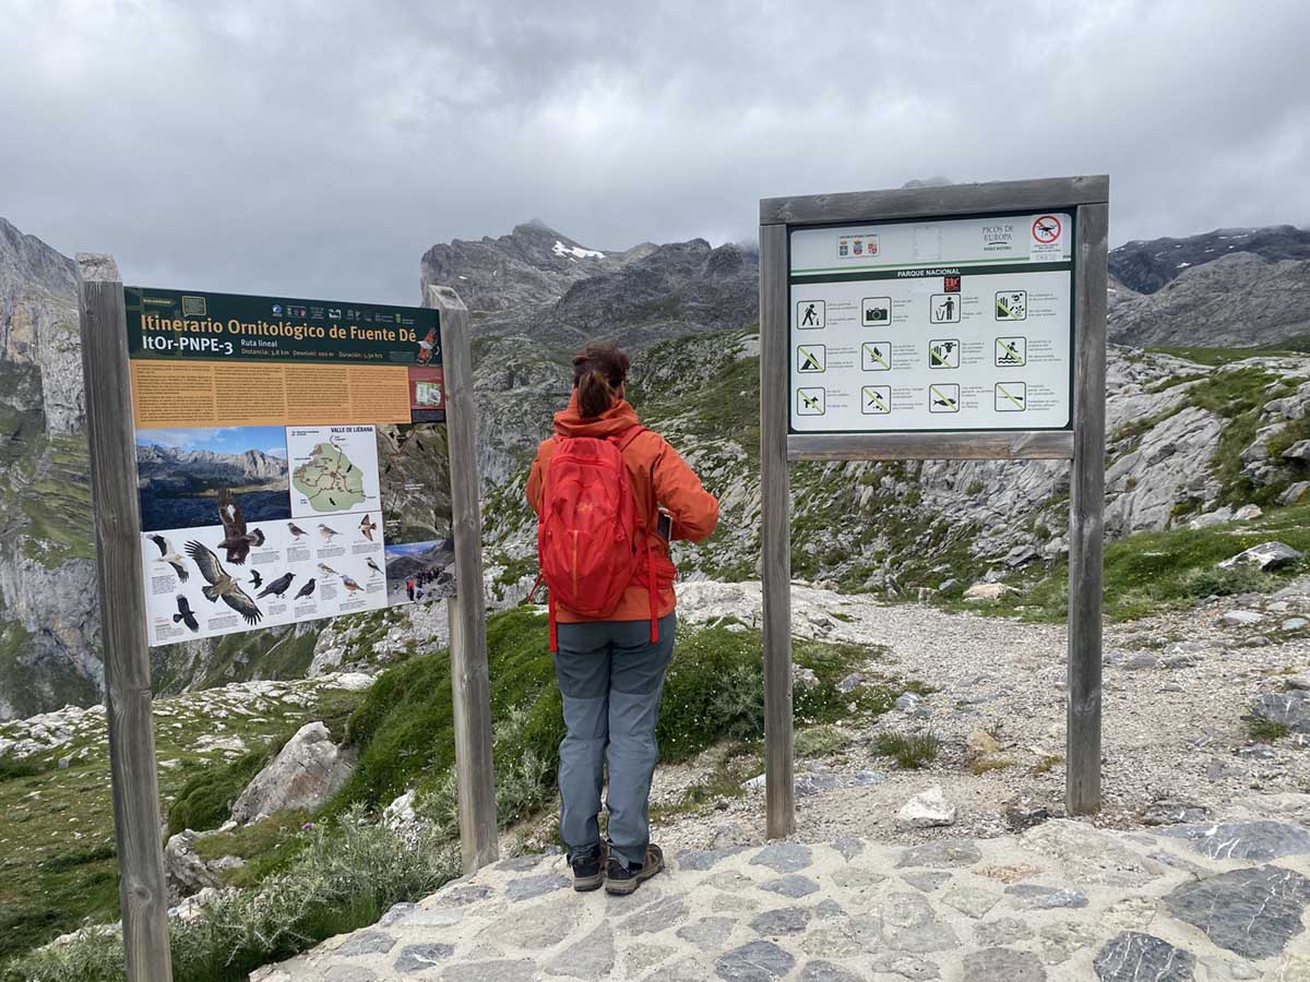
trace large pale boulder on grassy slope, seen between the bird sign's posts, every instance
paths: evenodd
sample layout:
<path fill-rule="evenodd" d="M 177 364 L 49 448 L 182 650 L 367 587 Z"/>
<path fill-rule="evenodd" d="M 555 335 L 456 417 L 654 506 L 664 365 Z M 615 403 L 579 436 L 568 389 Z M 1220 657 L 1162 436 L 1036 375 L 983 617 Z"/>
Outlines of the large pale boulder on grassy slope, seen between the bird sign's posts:
<path fill-rule="evenodd" d="M 322 723 L 307 723 L 259 771 L 232 805 L 232 818 L 255 822 L 288 808 L 313 810 L 346 784 L 354 755 L 331 741 Z"/>

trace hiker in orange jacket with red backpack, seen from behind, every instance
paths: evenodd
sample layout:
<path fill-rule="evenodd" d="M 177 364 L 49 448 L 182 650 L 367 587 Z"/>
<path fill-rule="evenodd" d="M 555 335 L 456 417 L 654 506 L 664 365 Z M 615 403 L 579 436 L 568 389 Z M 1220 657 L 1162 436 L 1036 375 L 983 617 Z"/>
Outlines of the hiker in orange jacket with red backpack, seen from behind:
<path fill-rule="evenodd" d="M 631 893 L 664 867 L 650 842 L 648 799 L 677 626 L 668 541 L 700 542 L 719 516 L 719 503 L 677 450 L 637 422 L 625 398 L 627 365 L 614 346 L 588 346 L 574 359 L 569 409 L 555 414 L 555 433 L 537 449 L 528 478 L 567 731 L 559 837 L 574 889 L 605 882 L 610 893 Z"/>

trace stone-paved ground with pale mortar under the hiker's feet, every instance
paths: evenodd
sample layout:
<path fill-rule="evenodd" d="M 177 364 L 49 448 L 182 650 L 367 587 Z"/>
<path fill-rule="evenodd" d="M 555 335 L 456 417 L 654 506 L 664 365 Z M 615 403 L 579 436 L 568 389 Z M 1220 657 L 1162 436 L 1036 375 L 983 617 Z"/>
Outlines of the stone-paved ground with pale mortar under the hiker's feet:
<path fill-rule="evenodd" d="M 1297 800 L 1293 800 L 1297 799 Z M 688 851 L 631 897 L 525 855 L 254 982 L 1310 979 L 1310 796 L 1279 818 Z"/>

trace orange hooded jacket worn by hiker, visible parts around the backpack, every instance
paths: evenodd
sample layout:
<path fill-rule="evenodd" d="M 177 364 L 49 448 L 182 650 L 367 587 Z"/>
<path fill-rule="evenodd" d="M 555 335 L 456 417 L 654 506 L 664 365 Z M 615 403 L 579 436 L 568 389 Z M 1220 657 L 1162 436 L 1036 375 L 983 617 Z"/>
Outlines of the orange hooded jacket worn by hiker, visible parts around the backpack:
<path fill-rule="evenodd" d="M 616 401 L 599 416 L 583 419 L 578 410 L 576 389 L 569 399 L 569 409 L 555 414 L 557 436 L 592 436 L 604 440 L 624 433 L 634 426 L 638 426 L 637 411 L 626 399 Z M 542 440 L 537 448 L 537 460 L 532 462 L 532 474 L 528 477 L 528 504 L 538 517 L 546 467 L 558 445 L 553 439 Z M 718 499 L 701 487 L 696 471 L 686 466 L 686 461 L 663 436 L 650 429 L 638 433 L 624 450 L 624 465 L 627 467 L 627 483 L 637 499 L 637 518 L 641 528 L 651 528 L 656 508 L 663 505 L 673 516 L 673 538 L 700 542 L 714 532 L 719 521 Z M 667 563 L 671 568 L 668 543 L 659 536 L 652 536 L 651 542 L 656 564 Z M 676 602 L 672 587 L 660 589 L 658 615 L 671 614 Z M 647 588 L 629 584 L 614 613 L 607 619 L 647 621 L 650 615 Z M 559 606 L 555 619 L 561 623 L 578 623 L 590 618 Z"/>

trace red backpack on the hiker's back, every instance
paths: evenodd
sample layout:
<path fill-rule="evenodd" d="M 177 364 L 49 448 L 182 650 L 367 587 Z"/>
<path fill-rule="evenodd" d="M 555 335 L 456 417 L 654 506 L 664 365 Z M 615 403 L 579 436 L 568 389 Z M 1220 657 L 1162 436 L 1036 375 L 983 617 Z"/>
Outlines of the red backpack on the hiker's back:
<path fill-rule="evenodd" d="M 555 437 L 558 449 L 546 465 L 537 522 L 537 584 L 545 580 L 550 591 L 550 651 L 559 649 L 555 601 L 575 614 L 604 621 L 634 580 L 646 580 L 651 642 L 659 640 L 654 553 L 647 545 L 648 530 L 637 524 L 637 499 L 622 453 L 643 429 L 634 426 L 607 440 Z M 643 562 L 646 570 L 641 568 Z"/>

